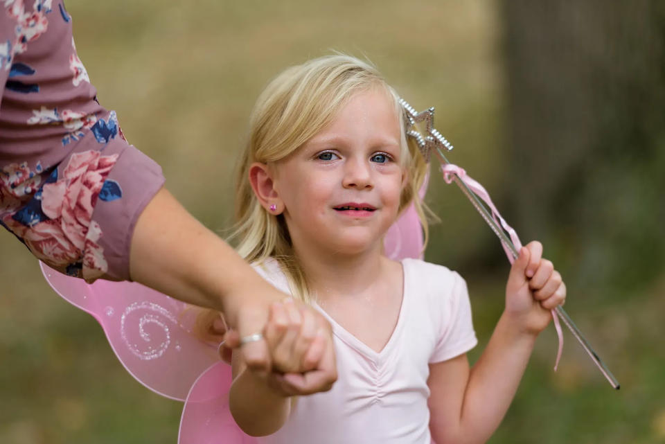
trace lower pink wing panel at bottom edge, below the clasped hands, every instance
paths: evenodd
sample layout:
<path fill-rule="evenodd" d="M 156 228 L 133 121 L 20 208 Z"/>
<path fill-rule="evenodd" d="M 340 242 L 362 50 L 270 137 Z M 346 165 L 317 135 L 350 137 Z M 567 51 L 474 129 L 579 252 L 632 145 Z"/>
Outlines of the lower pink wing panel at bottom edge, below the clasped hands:
<path fill-rule="evenodd" d="M 231 366 L 213 364 L 194 383 L 180 420 L 178 444 L 256 444 L 229 411 Z"/>

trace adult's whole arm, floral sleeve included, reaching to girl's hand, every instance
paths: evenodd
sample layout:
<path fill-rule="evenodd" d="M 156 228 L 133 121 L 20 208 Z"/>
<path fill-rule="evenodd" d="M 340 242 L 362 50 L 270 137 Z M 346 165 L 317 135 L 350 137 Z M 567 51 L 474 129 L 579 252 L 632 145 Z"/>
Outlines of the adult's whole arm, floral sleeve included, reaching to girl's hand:
<path fill-rule="evenodd" d="M 224 312 L 240 335 L 261 332 L 269 303 L 285 295 L 189 215 L 163 189 L 159 165 L 127 143 L 96 100 L 71 21 L 61 0 L 0 6 L 0 225 L 61 272 L 133 279 Z M 269 368 L 265 341 L 242 353 Z M 334 380 L 317 374 L 308 389 Z"/>

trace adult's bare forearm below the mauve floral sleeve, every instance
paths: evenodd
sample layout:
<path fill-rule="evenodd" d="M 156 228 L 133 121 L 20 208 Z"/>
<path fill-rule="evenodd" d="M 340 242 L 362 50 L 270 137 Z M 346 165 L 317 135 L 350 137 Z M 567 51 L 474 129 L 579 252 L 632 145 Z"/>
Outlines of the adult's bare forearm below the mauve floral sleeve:
<path fill-rule="evenodd" d="M 262 332 L 269 305 L 287 296 L 190 215 L 166 188 L 136 220 L 130 277 L 175 299 L 224 313 L 240 337 Z M 249 366 L 269 368 L 265 341 L 247 344 L 242 352 Z"/>

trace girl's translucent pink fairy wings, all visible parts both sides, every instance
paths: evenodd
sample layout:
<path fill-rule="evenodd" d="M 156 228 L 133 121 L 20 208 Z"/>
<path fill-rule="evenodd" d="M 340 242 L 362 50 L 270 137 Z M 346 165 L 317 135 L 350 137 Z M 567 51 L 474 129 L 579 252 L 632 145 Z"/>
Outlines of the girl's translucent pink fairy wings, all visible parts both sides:
<path fill-rule="evenodd" d="M 425 195 L 427 181 L 420 189 Z M 423 257 L 423 231 L 413 205 L 384 238 L 393 260 Z M 138 283 L 98 280 L 87 284 L 40 264 L 63 299 L 100 323 L 114 352 L 141 384 L 167 398 L 184 400 L 179 444 L 256 444 L 229 411 L 231 366 L 217 350 L 191 334 L 188 305 Z"/>

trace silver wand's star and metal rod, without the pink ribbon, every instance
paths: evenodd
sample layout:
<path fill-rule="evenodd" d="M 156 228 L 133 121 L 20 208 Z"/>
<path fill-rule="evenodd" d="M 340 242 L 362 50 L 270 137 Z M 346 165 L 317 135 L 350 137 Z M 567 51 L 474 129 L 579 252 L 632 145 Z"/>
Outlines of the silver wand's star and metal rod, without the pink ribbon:
<path fill-rule="evenodd" d="M 452 150 L 452 145 L 445 139 L 445 137 L 441 135 L 440 132 L 434 128 L 434 107 L 431 107 L 423 112 L 416 112 L 416 109 L 411 107 L 411 105 L 409 105 L 404 99 L 400 99 L 400 105 L 402 105 L 402 109 L 404 109 L 407 136 L 411 139 L 414 139 L 416 143 L 418 143 L 418 147 L 420 148 L 420 152 L 423 154 L 423 157 L 425 157 L 425 161 L 429 162 L 430 153 L 434 152 L 438 160 L 441 162 L 443 170 L 445 170 L 446 166 L 453 166 L 452 163 L 450 163 L 450 161 L 448 161 L 448 159 L 446 159 L 445 155 L 443 154 L 444 149 L 446 151 Z M 418 128 L 416 127 L 416 123 L 421 123 L 423 121 L 425 121 L 426 131 L 424 136 L 423 134 L 420 134 Z M 514 230 L 505 223 L 503 218 L 498 215 L 496 211 L 491 213 L 488 211 L 483 202 L 487 202 L 493 208 L 493 204 L 491 203 L 489 196 L 486 195 L 486 198 L 479 196 L 477 194 L 478 188 L 475 188 L 476 192 L 472 190 L 472 188 L 466 183 L 465 179 L 460 177 L 458 171 L 463 170 L 457 168 L 456 170 L 450 170 L 452 173 L 446 172 L 445 174 L 447 177 L 450 177 L 450 180 L 454 181 L 457 186 L 459 186 L 459 189 L 462 190 L 462 193 L 468 197 L 470 202 L 477 209 L 478 213 L 480 213 L 492 231 L 494 231 L 494 233 L 499 237 L 499 240 L 501 240 L 504 248 L 506 249 L 506 253 L 511 254 L 513 258 L 517 258 L 519 253 L 515 247 L 515 243 L 519 243 L 519 240 L 517 239 L 517 235 Z M 484 191 L 484 188 L 481 186 L 479 187 Z M 511 233 L 511 236 L 506 234 L 506 230 Z M 515 240 L 515 242 L 513 242 L 513 240 Z M 605 363 L 603 363 L 601 358 L 598 357 L 592 346 L 589 344 L 589 341 L 587 341 L 572 319 L 570 319 L 567 312 L 560 305 L 553 311 L 556 312 L 556 314 L 553 313 L 555 321 L 556 315 L 558 315 L 563 320 L 568 330 L 570 330 L 570 332 L 573 334 L 575 339 L 578 340 L 578 342 L 589 354 L 596 366 L 598 366 L 598 369 L 601 371 L 601 373 L 603 373 L 605 378 L 610 382 L 610 384 L 612 384 L 612 387 L 618 390 L 619 381 L 617 381 L 617 378 L 614 378 L 614 375 L 612 375 L 610 369 L 605 366 Z M 558 323 L 556 325 L 558 325 Z"/>

